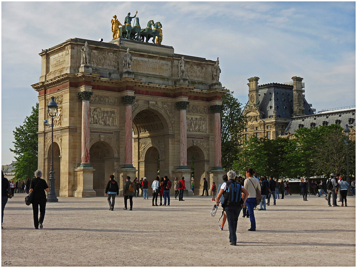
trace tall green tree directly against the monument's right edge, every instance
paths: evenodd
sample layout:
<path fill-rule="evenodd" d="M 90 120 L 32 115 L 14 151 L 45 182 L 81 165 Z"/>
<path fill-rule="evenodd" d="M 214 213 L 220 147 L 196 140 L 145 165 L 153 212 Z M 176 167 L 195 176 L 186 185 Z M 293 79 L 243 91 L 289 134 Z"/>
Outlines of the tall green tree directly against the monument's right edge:
<path fill-rule="evenodd" d="M 242 112 L 242 104 L 233 96 L 233 91 L 228 91 L 222 96 L 222 168 L 227 171 L 232 169 L 233 160 L 236 158 L 242 144 L 241 132 L 247 123 L 246 117 L 242 115 Z"/>

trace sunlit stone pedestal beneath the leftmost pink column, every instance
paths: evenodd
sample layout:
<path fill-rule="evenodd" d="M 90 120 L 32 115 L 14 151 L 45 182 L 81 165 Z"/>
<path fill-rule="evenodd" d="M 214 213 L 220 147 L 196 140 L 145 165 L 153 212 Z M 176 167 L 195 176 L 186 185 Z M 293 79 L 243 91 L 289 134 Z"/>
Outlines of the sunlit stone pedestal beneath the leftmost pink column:
<path fill-rule="evenodd" d="M 78 167 L 73 169 L 77 176 L 77 190 L 74 192 L 74 197 L 95 197 L 96 193 L 93 190 L 93 172 L 92 167 Z"/>

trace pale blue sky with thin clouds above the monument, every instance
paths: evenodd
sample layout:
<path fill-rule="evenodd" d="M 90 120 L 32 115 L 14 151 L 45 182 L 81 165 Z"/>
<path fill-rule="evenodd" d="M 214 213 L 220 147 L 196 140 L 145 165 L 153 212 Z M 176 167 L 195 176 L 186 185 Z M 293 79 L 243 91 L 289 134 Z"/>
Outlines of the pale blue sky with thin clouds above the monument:
<path fill-rule="evenodd" d="M 247 101 L 260 84 L 304 78 L 313 108 L 355 105 L 355 2 L 2 2 L 2 161 L 14 160 L 12 130 L 37 94 L 38 53 L 70 38 L 111 40 L 113 15 L 138 10 L 141 25 L 161 21 L 163 45 L 220 58 L 223 86 Z M 21 108 L 18 108 L 18 107 Z"/>

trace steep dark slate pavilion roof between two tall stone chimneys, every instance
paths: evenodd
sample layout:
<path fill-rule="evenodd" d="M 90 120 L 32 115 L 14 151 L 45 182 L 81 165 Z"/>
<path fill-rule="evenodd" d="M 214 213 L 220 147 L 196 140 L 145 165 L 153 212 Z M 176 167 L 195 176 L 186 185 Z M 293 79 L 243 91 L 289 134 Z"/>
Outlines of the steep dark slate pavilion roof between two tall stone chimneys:
<path fill-rule="evenodd" d="M 276 115 L 280 118 L 290 119 L 293 113 L 293 86 L 270 83 L 258 86 L 260 105 L 259 109 L 264 113 L 263 118 L 269 118 L 273 115 L 275 107 Z M 303 97 L 303 106 L 305 115 L 312 115 L 313 109 Z"/>

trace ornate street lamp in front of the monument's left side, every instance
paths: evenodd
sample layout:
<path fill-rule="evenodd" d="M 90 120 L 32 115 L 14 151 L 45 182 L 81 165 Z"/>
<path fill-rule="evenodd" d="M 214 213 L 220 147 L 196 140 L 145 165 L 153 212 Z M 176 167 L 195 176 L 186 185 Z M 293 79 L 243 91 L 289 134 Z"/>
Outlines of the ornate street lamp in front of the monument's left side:
<path fill-rule="evenodd" d="M 51 97 L 51 101 L 47 105 L 47 112 L 51 117 L 51 124 L 47 124 L 47 120 L 44 120 L 45 126 L 51 126 L 52 128 L 52 141 L 51 141 L 51 171 L 50 171 L 50 190 L 47 194 L 47 202 L 58 202 L 55 192 L 55 172 L 53 168 L 53 118 L 57 115 L 58 106 L 55 102 L 55 97 Z"/>

